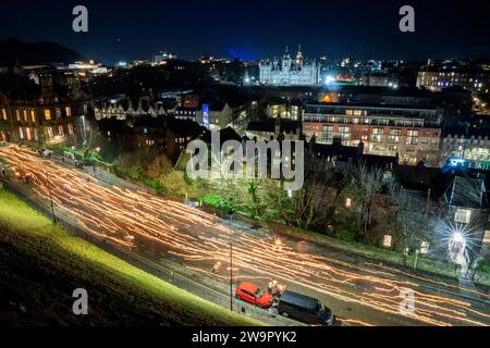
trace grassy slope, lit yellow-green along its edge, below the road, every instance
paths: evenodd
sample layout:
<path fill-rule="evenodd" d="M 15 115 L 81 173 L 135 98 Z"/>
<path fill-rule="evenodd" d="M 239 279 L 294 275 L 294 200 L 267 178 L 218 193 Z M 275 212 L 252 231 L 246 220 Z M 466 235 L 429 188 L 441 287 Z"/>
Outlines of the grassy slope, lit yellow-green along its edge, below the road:
<path fill-rule="evenodd" d="M 1 189 L 0 260 L 0 324 L 258 324 L 70 236 Z M 77 287 L 88 315 L 72 314 Z"/>

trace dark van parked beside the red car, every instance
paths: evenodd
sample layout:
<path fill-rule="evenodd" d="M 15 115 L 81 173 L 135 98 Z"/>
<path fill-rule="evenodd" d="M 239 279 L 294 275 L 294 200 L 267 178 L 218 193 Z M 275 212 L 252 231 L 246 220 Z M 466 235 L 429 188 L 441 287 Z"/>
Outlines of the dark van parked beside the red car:
<path fill-rule="evenodd" d="M 285 290 L 279 298 L 278 311 L 311 325 L 332 325 L 332 311 L 316 298 Z"/>

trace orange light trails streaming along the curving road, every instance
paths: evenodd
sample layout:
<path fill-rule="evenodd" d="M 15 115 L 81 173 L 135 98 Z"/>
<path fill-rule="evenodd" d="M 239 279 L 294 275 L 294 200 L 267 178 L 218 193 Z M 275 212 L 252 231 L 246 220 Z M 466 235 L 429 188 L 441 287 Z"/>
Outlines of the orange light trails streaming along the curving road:
<path fill-rule="evenodd" d="M 334 258 L 298 252 L 287 238 L 283 238 L 278 247 L 273 240 L 238 229 L 231 231 L 212 214 L 143 190 L 101 185 L 94 177 L 87 181 L 87 175 L 45 161 L 26 150 L 1 148 L 0 154 L 9 164 L 33 175 L 28 187 L 40 199 L 49 199 L 50 188 L 57 212 L 71 216 L 87 233 L 126 248 L 159 246 L 169 257 L 206 276 L 228 278 L 210 270 L 219 261 L 225 271 L 231 237 L 233 265 L 241 273 L 236 279 L 278 278 L 286 285 L 296 284 L 341 301 L 395 315 L 402 315 L 401 291 L 409 288 L 416 300 L 411 318 L 421 323 L 487 325 L 489 322 L 488 309 L 482 312 L 470 302 L 458 299 L 456 286 L 394 268 L 373 263 L 355 265 Z M 428 294 L 420 289 L 424 283 L 441 287 L 446 293 L 454 291 L 455 296 Z M 479 291 L 478 295 L 487 296 Z M 368 325 L 356 319 L 344 321 Z"/>

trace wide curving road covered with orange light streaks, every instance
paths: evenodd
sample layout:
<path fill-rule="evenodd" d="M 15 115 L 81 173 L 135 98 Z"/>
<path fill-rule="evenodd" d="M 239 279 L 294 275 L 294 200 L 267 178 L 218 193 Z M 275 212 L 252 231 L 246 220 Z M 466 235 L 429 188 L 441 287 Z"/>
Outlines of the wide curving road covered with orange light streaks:
<path fill-rule="evenodd" d="M 457 284 L 443 279 L 359 261 L 305 240 L 279 240 L 264 228 L 222 220 L 131 184 L 109 185 L 16 147 L 0 148 L 0 157 L 33 174 L 19 187 L 45 202 L 51 191 L 56 213 L 79 228 L 219 291 L 226 291 L 232 240 L 235 283 L 249 279 L 266 287 L 277 279 L 319 298 L 342 324 L 490 324 L 489 294 L 478 289 L 466 288 L 462 296 Z M 221 268 L 215 273 L 217 262 Z M 413 311 L 402 306 L 407 291 L 414 296 Z"/>

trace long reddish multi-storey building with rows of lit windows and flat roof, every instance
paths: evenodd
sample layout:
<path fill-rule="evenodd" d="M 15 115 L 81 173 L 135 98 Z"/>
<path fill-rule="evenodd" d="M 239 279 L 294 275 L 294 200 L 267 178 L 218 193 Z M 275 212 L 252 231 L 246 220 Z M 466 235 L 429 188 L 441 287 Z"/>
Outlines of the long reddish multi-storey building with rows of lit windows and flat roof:
<path fill-rule="evenodd" d="M 303 116 L 307 139 L 359 146 L 365 154 L 397 157 L 401 164 L 439 163 L 442 110 L 399 105 L 308 104 Z"/>

